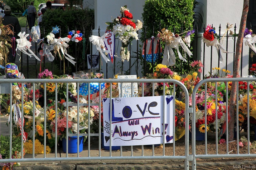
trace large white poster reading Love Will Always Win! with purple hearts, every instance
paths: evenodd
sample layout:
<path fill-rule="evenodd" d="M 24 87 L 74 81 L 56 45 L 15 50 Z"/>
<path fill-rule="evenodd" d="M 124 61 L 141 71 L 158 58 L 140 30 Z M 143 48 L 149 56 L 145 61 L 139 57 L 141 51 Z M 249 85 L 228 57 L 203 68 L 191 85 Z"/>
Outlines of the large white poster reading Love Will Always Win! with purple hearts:
<path fill-rule="evenodd" d="M 162 144 L 163 137 L 172 143 L 173 107 L 170 95 L 112 98 L 111 110 L 110 98 L 103 98 L 104 145 L 110 146 L 110 114 L 112 146 Z"/>

